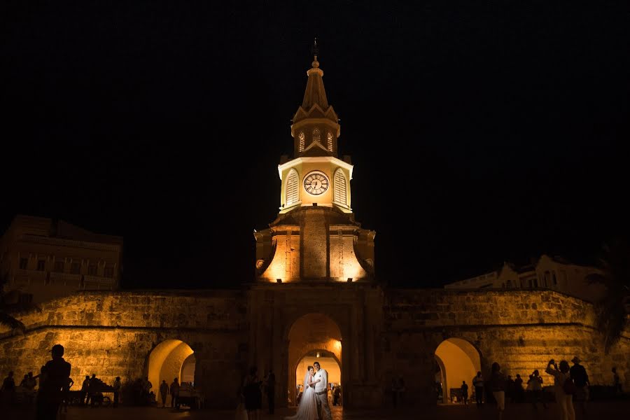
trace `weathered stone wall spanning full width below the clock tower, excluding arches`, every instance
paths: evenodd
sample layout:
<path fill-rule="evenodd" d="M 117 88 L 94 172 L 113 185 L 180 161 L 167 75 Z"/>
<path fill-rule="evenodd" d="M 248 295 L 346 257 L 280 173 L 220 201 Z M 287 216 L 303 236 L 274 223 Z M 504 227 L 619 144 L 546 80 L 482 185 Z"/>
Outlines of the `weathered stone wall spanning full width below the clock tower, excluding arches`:
<path fill-rule="evenodd" d="M 342 377 L 348 405 L 386 403 L 391 378 L 434 402 L 434 352 L 447 338 L 470 342 L 482 370 L 498 361 L 506 374 L 542 372 L 549 358 L 578 355 L 592 384 L 609 384 L 610 368 L 628 388 L 630 339 L 626 332 L 604 355 L 593 328 L 591 304 L 550 290 L 396 290 L 371 284 L 265 284 L 246 290 L 81 293 L 18 314 L 24 336 L 0 334 L 0 372 L 38 372 L 61 343 L 75 381 L 96 373 L 111 383 L 144 376 L 148 355 L 165 339 L 195 351 L 195 384 L 208 405 L 233 407 L 249 365 L 274 368 L 279 405 L 286 405 L 291 368 L 288 330 L 309 313 L 329 316 L 342 335 Z M 293 357 L 293 356 L 291 356 Z M 208 377 L 221 381 L 205 381 Z M 295 372 L 293 372 L 295 376 Z M 422 378 L 426 378 L 426 382 Z M 552 379 L 545 377 L 547 384 Z"/>

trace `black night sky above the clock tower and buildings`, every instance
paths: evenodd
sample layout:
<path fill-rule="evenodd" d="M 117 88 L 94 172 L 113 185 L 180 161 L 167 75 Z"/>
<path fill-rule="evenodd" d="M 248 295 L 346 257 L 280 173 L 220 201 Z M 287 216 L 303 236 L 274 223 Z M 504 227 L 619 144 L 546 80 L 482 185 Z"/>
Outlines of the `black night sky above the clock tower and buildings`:
<path fill-rule="evenodd" d="M 626 1 L 77 3 L 0 6 L 0 228 L 122 235 L 127 287 L 251 279 L 315 35 L 381 279 L 629 237 Z"/>

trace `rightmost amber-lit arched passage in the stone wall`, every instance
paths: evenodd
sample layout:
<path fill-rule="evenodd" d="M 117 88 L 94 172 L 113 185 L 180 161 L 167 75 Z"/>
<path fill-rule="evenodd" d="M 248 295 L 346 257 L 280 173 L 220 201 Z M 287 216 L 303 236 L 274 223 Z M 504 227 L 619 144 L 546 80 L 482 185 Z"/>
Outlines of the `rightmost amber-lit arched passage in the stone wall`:
<path fill-rule="evenodd" d="M 475 346 L 461 338 L 445 339 L 435 349 L 435 360 L 440 367 L 443 402 L 452 402 L 451 389 L 459 389 L 462 381 L 466 381 L 468 394 L 472 394 L 472 378 L 481 370 L 481 357 Z"/>

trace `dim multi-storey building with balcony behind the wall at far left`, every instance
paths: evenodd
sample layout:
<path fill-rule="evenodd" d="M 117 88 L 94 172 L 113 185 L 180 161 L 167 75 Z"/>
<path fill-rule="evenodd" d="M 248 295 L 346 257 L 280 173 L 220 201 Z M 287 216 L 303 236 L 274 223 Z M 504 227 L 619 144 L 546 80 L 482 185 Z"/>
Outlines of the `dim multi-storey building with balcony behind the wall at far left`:
<path fill-rule="evenodd" d="M 45 302 L 77 290 L 120 286 L 123 238 L 64 221 L 15 216 L 0 238 L 0 274 L 23 302 Z"/>

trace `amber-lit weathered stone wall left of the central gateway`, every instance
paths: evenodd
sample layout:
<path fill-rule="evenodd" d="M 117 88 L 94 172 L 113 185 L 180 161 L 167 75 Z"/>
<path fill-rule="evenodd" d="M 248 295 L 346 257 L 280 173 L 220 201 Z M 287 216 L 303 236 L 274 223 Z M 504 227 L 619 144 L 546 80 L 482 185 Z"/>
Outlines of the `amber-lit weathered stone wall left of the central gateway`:
<path fill-rule="evenodd" d="M 62 344 L 77 386 L 87 374 L 112 384 L 144 377 L 151 350 L 180 339 L 195 351 L 195 383 L 207 405 L 235 402 L 248 357 L 246 299 L 238 291 L 82 293 L 20 316 L 24 336 L 0 335 L 0 371 L 38 374 Z M 204 381 L 216 377 L 222 380 Z M 154 384 L 158 386 L 158 384 Z"/>

